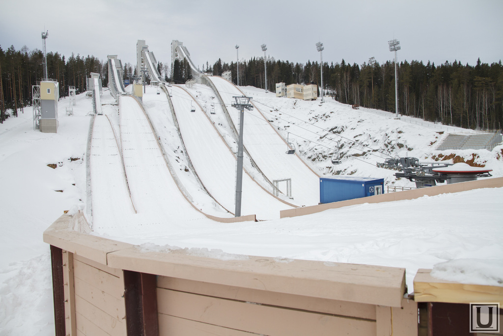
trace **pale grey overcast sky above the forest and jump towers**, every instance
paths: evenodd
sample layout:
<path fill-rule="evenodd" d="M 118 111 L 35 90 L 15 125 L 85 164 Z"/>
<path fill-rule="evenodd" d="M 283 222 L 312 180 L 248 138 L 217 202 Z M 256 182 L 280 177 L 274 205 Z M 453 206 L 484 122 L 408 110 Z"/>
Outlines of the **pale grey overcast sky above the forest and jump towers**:
<path fill-rule="evenodd" d="M 0 45 L 72 52 L 136 63 L 145 40 L 157 60 L 171 63 L 171 41 L 184 43 L 200 67 L 261 57 L 305 63 L 362 64 L 392 60 L 388 41 L 400 41 L 398 61 L 455 59 L 475 65 L 503 58 L 503 0 L 0 0 Z"/>

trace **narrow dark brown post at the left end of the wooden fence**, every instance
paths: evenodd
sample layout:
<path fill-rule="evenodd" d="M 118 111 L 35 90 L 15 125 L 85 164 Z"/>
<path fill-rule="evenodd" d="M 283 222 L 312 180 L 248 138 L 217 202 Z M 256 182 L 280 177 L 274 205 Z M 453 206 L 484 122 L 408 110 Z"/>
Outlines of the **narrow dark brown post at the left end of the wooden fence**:
<path fill-rule="evenodd" d="M 54 302 L 54 329 L 56 336 L 66 333 L 64 310 L 63 250 L 51 245 L 52 298 Z"/>

